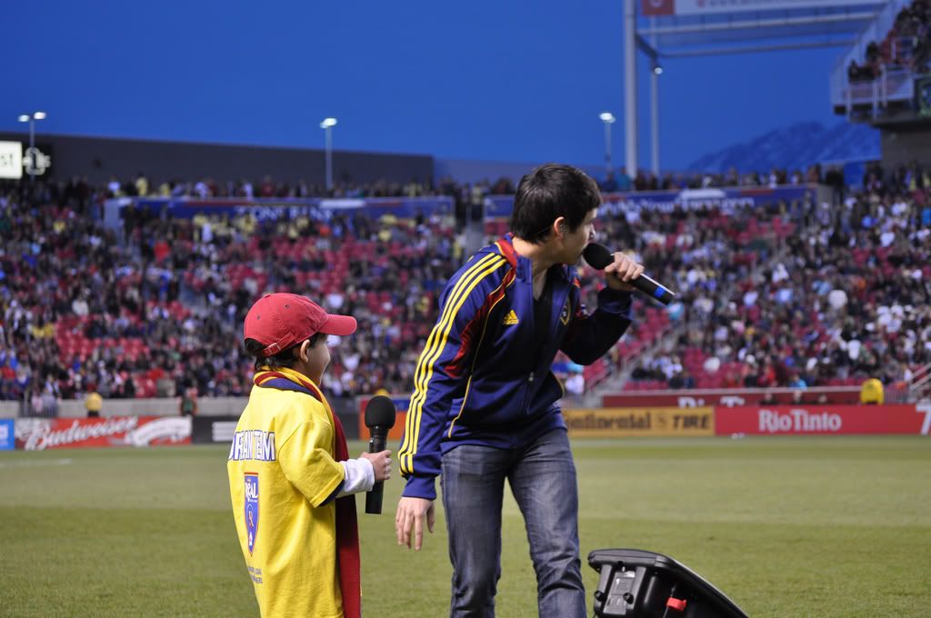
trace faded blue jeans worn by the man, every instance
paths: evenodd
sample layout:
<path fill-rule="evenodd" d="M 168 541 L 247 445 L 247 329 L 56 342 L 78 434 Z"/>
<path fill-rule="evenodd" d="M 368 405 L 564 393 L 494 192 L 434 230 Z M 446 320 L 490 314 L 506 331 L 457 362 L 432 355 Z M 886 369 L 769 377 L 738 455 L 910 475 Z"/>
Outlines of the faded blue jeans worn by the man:
<path fill-rule="evenodd" d="M 562 429 L 519 450 L 466 444 L 443 455 L 440 486 L 452 560 L 450 615 L 494 616 L 505 479 L 527 527 L 541 618 L 585 618 L 575 465 Z"/>

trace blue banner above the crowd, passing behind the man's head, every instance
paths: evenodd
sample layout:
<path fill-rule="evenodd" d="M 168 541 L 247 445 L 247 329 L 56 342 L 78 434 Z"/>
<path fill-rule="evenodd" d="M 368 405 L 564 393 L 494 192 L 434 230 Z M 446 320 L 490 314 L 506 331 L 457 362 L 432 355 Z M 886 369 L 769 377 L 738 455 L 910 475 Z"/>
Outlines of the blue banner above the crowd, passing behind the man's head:
<path fill-rule="evenodd" d="M 708 189 L 683 189 L 681 191 L 638 191 L 630 193 L 602 194 L 600 214 L 660 210 L 671 212 L 675 208 L 695 210 L 719 208 L 725 214 L 740 208 L 765 207 L 785 201 L 790 203 L 808 197 L 817 199 L 818 185 L 769 187 L 728 187 Z M 485 198 L 485 220 L 509 219 L 514 209 L 513 195 L 489 195 Z"/>

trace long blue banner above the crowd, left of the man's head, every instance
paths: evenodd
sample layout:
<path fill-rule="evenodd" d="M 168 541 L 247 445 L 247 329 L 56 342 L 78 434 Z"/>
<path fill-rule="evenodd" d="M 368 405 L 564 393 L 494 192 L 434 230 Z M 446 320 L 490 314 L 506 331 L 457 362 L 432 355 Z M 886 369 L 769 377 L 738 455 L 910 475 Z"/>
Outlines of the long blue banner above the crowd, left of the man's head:
<path fill-rule="evenodd" d="M 181 198 L 129 198 L 111 199 L 106 202 L 106 222 L 109 226 L 119 224 L 123 208 L 134 204 L 136 208 L 165 212 L 169 217 L 193 219 L 198 214 L 229 215 L 239 217 L 252 215 L 258 222 L 278 221 L 307 217 L 314 221 L 330 221 L 334 216 L 365 215 L 379 219 L 393 215 L 398 219 L 413 219 L 418 215 L 447 216 L 454 214 L 452 197 L 372 197 L 372 198 L 280 198 L 280 199 L 190 199 Z"/>

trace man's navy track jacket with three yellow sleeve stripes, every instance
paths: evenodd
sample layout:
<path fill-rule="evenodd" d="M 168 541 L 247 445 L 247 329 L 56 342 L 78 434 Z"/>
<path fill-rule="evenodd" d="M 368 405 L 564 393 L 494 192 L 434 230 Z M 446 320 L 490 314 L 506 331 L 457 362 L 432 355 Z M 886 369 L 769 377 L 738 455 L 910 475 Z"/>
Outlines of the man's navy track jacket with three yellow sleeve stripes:
<path fill-rule="evenodd" d="M 602 289 L 588 315 L 572 266 L 550 270 L 550 337 L 533 324 L 533 274 L 511 236 L 481 249 L 447 282 L 439 321 L 414 372 L 398 452 L 403 495 L 435 500 L 441 453 L 462 444 L 519 449 L 565 428 L 562 385 L 550 370 L 559 350 L 589 365 L 630 324 L 630 293 Z M 555 276 L 554 276 L 555 275 Z"/>

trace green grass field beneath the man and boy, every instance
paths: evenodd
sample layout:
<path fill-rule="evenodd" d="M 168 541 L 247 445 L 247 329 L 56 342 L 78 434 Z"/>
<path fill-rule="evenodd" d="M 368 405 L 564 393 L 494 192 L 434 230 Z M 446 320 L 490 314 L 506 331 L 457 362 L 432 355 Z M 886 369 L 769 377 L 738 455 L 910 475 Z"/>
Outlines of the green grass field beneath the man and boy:
<path fill-rule="evenodd" d="M 631 547 L 685 563 L 751 616 L 931 615 L 927 437 L 579 439 L 574 450 L 589 610 L 587 553 Z M 257 616 L 226 452 L 0 452 L 0 616 Z M 441 513 L 423 551 L 398 547 L 400 487 L 386 484 L 382 516 L 359 516 L 366 615 L 447 615 Z M 509 496 L 504 547 L 497 615 L 535 616 Z"/>

